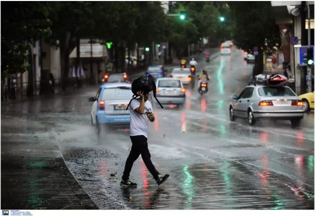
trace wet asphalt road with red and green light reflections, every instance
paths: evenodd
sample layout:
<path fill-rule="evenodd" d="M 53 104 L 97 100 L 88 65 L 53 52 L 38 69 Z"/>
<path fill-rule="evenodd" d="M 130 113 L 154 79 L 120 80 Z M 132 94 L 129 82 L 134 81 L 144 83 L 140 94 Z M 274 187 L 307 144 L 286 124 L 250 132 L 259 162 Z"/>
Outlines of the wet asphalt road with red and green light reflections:
<path fill-rule="evenodd" d="M 46 124 L 99 209 L 314 209 L 314 111 L 298 128 L 289 121 L 229 121 L 228 102 L 251 79 L 252 66 L 235 48 L 231 56 L 213 51 L 210 63 L 197 65 L 197 73 L 205 68 L 211 76 L 208 93 L 201 97 L 188 86 L 184 108 L 154 103 L 151 159 L 170 174 L 161 186 L 141 156 L 130 174 L 138 187 L 119 186 L 131 148 L 128 126 L 96 136 L 88 102 L 96 87 L 7 104 L 1 112 Z"/>

